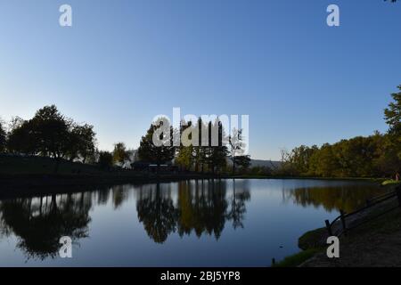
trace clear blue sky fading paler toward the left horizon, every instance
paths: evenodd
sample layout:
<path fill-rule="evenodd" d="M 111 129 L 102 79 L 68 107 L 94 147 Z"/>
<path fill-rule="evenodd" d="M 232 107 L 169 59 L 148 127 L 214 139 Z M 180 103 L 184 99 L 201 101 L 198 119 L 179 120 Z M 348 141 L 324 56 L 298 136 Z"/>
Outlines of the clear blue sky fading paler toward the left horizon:
<path fill-rule="evenodd" d="M 249 115 L 251 157 L 279 159 L 387 130 L 400 29 L 401 3 L 382 0 L 0 0 L 0 118 L 55 104 L 112 150 L 174 107 Z"/>

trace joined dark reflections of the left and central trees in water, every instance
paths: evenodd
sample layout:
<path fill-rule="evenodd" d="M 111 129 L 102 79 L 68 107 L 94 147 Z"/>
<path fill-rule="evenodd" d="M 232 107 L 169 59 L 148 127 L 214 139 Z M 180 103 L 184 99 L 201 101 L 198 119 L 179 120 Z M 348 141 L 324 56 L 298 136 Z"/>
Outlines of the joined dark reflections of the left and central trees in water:
<path fill-rule="evenodd" d="M 229 191 L 230 189 L 230 191 Z M 134 190 L 134 191 L 133 191 Z M 58 256 L 62 236 L 75 245 L 88 237 L 93 203 L 119 210 L 130 195 L 136 195 L 138 220 L 157 243 L 177 232 L 180 237 L 203 234 L 221 236 L 225 223 L 243 227 L 248 182 L 225 180 L 122 185 L 97 191 L 0 201 L 0 238 L 14 234 L 17 248 L 30 258 Z"/>

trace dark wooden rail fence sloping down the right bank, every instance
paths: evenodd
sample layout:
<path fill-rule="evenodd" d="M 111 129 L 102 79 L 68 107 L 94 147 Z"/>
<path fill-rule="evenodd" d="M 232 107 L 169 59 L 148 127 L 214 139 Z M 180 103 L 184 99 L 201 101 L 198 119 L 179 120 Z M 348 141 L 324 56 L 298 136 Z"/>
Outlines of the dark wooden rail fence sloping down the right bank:
<path fill-rule="evenodd" d="M 364 210 L 366 210 L 368 208 L 372 208 L 374 206 L 380 205 L 389 199 L 394 199 L 395 197 L 397 197 L 397 206 L 396 207 L 389 208 L 385 211 L 382 211 L 381 213 L 377 214 L 376 216 L 372 216 L 368 219 L 365 219 L 364 221 L 362 221 L 358 224 L 347 223 L 347 218 L 356 216 L 357 214 L 363 212 Z M 396 208 L 401 208 L 401 185 L 397 186 L 396 191 L 390 191 L 390 192 L 387 192 L 380 196 L 373 197 L 372 199 L 367 199 L 366 205 L 363 208 L 357 209 L 356 211 L 353 211 L 351 213 L 346 213 L 343 210 L 340 210 L 340 216 L 337 216 L 332 222 L 330 222 L 329 220 L 325 220 L 324 223 L 326 225 L 327 232 L 329 233 L 330 236 L 335 235 L 335 236 L 340 237 L 340 235 L 347 234 L 347 232 L 349 230 L 356 228 L 356 226 L 359 226 L 368 221 L 371 221 L 372 219 L 375 219 L 379 216 L 387 214 Z M 340 221 L 340 223 L 339 223 L 339 221 Z"/>

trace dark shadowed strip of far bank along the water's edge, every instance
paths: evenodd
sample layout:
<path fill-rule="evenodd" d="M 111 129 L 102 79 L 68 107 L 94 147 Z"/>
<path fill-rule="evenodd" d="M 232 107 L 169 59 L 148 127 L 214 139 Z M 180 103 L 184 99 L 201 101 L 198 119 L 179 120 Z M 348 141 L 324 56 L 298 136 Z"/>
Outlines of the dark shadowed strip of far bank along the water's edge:
<path fill-rule="evenodd" d="M 18 195 L 53 194 L 76 189 L 107 187 L 121 184 L 169 183 L 184 180 L 209 179 L 303 179 L 303 180 L 332 180 L 332 181 L 361 181 L 366 183 L 381 183 L 382 178 L 364 177 L 288 177 L 261 175 L 212 175 L 198 173 L 179 174 L 132 174 L 118 172 L 102 175 L 40 175 L 40 174 L 0 174 L 0 198 Z M 54 189 L 54 188 L 57 189 Z M 70 189 L 74 188 L 74 189 Z"/>

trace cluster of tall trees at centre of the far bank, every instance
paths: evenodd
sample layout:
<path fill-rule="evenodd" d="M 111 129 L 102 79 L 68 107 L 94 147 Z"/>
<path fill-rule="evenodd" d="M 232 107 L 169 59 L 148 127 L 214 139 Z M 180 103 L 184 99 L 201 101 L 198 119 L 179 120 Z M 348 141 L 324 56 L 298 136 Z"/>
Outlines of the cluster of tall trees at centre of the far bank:
<path fill-rule="evenodd" d="M 250 167 L 250 156 L 243 155 L 245 145 L 241 130 L 234 129 L 233 134 L 226 135 L 219 120 L 204 122 L 198 118 L 196 124 L 183 120 L 179 130 L 171 127 L 171 135 L 168 138 L 163 138 L 163 134 L 160 134 L 160 140 L 167 139 L 169 143 L 156 146 L 153 143 L 153 135 L 160 125 L 151 125 L 142 137 L 138 149 L 139 159 L 155 162 L 158 166 L 174 159 L 176 166 L 182 170 L 213 174 L 229 171 L 235 173 L 235 167 Z M 217 132 L 217 142 L 212 142 L 214 130 Z M 178 132 L 179 137 L 184 139 L 179 146 L 174 146 L 174 132 Z M 231 160 L 232 169 L 227 168 L 228 159 Z"/>

